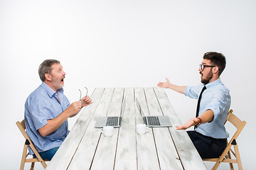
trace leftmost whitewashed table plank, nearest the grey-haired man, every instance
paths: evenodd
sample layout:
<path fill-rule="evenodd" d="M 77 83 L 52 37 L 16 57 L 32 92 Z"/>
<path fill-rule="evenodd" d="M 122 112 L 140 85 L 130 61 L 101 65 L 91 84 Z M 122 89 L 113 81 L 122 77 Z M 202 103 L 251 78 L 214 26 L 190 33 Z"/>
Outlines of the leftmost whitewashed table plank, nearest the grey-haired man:
<path fill-rule="evenodd" d="M 46 169 L 58 170 L 58 169 L 67 169 L 70 164 L 70 160 L 73 158 L 75 154 L 75 150 L 80 144 L 82 136 L 87 129 L 87 125 L 90 123 L 92 119 L 92 115 L 95 112 L 95 108 L 97 107 L 100 98 L 103 94 L 104 89 L 95 89 L 92 93 L 92 104 L 85 108 L 82 108 L 80 113 L 80 117 L 76 121 L 72 130 L 68 134 L 68 137 L 64 140 L 63 144 L 58 149 L 58 152 L 54 155 L 53 159 L 50 161 L 50 164 L 46 167 Z"/>

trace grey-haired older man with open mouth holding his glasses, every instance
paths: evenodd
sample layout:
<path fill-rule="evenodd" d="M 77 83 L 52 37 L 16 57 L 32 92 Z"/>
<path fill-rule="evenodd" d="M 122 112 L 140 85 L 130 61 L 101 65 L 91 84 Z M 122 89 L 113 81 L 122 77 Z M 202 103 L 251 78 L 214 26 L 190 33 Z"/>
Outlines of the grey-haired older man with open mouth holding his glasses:
<path fill-rule="evenodd" d="M 26 100 L 25 125 L 41 157 L 50 160 L 68 135 L 68 118 L 92 100 L 85 96 L 70 104 L 63 94 L 65 72 L 58 60 L 45 60 L 38 73 L 42 84 Z M 29 153 L 33 154 L 31 148 Z"/>

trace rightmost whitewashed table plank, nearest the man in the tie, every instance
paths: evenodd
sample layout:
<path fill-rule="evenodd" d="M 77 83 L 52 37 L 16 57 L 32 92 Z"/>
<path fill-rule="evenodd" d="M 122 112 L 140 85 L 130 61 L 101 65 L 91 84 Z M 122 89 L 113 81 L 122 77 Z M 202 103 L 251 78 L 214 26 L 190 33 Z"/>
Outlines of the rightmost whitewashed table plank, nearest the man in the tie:
<path fill-rule="evenodd" d="M 171 107 L 168 96 L 165 94 L 164 89 L 154 87 L 155 94 L 159 100 L 161 111 L 164 115 L 169 115 L 172 125 L 181 125 L 181 120 Z M 175 127 L 169 128 L 171 137 L 174 140 L 176 150 L 181 159 L 184 169 L 207 169 L 203 163 L 200 155 L 193 146 L 186 130 L 176 130 Z"/>

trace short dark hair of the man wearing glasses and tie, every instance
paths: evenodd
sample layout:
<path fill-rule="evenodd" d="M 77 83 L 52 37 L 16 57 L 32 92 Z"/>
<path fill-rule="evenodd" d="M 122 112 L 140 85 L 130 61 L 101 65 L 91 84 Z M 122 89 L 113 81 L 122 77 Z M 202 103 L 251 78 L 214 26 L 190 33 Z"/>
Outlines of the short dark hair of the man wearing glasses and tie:
<path fill-rule="evenodd" d="M 225 56 L 219 52 L 206 52 L 203 55 L 203 59 L 208 59 L 210 62 L 212 62 L 215 66 L 219 68 L 218 75 L 223 72 L 226 65 Z"/>

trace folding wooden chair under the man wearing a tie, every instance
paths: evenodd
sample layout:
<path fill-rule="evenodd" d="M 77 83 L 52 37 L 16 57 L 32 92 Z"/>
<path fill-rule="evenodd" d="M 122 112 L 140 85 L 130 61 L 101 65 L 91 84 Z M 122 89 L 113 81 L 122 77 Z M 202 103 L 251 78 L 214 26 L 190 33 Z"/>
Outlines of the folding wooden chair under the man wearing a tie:
<path fill-rule="evenodd" d="M 238 169 L 242 169 L 242 162 L 241 162 L 241 159 L 240 159 L 240 154 L 239 154 L 239 150 L 238 150 L 238 143 L 236 142 L 236 139 L 238 138 L 238 135 L 240 134 L 242 129 L 245 127 L 246 122 L 245 121 L 241 121 L 238 117 L 236 117 L 233 114 L 233 110 L 231 110 L 231 109 L 230 109 L 230 111 L 228 113 L 228 118 L 225 121 L 225 123 L 227 121 L 232 123 L 235 126 L 235 128 L 237 129 L 235 134 L 231 138 L 230 142 L 227 141 L 228 145 L 224 149 L 224 151 L 220 155 L 220 157 L 213 158 L 213 159 L 203 159 L 203 161 L 216 162 L 215 165 L 213 166 L 213 169 L 217 169 L 218 166 L 220 166 L 221 162 L 228 162 L 230 164 L 230 169 L 231 170 L 234 169 L 233 163 L 234 164 L 238 164 Z M 224 125 L 225 125 L 225 123 L 224 123 Z M 234 147 L 235 152 L 231 148 L 232 146 Z M 235 159 L 232 159 L 230 152 L 233 154 Z"/>

